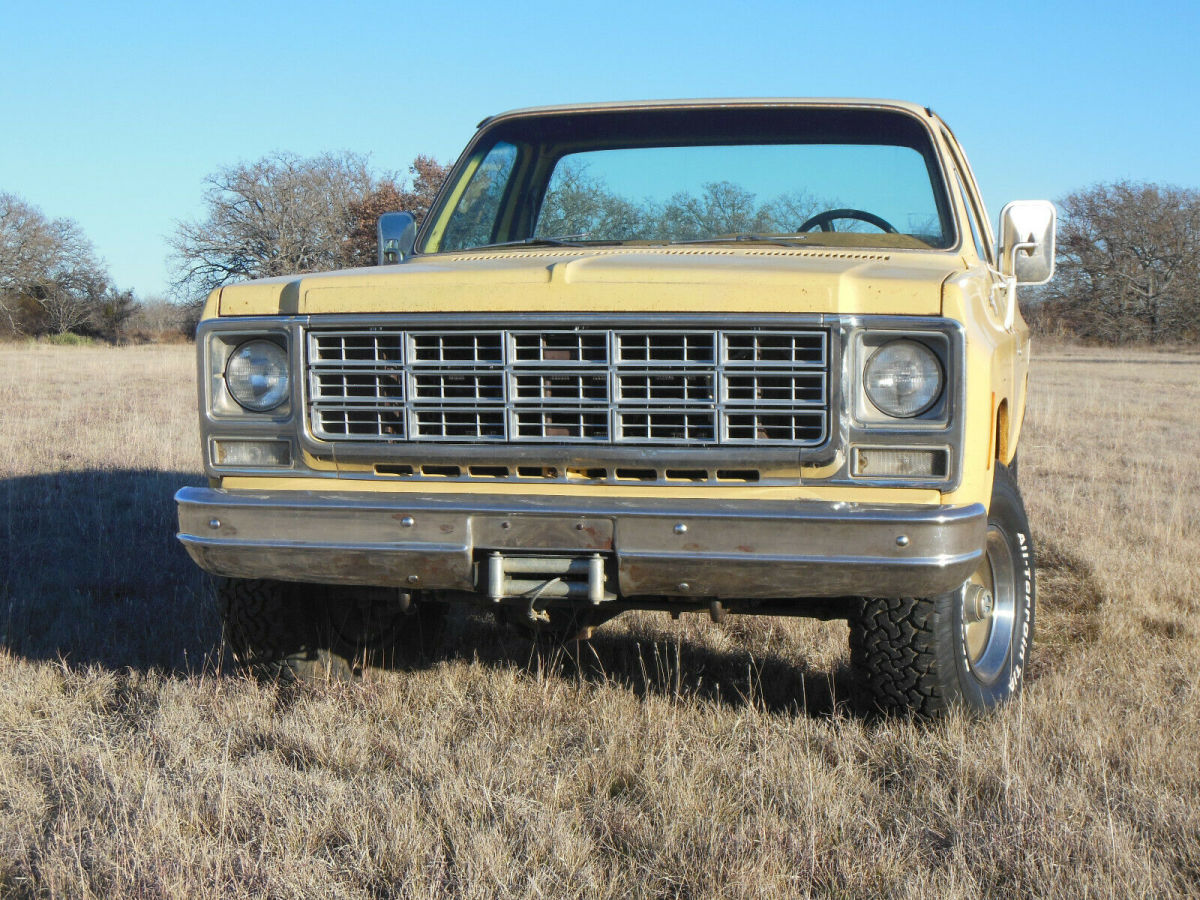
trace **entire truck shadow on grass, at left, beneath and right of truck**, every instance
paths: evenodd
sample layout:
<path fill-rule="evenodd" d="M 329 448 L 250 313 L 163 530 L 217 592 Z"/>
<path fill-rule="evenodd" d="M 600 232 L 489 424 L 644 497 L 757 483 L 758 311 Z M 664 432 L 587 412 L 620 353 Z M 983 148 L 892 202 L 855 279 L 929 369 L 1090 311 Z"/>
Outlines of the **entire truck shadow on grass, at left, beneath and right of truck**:
<path fill-rule="evenodd" d="M 222 662 L 212 582 L 175 540 L 173 496 L 196 473 L 85 470 L 0 480 L 0 647 L 31 660 L 194 673 Z M 1100 592 L 1082 560 L 1046 545 L 1039 560 L 1043 665 L 1087 642 Z M 661 630 L 601 630 L 547 650 L 456 607 L 422 665 L 469 659 L 550 677 L 774 712 L 850 708 L 845 661 L 832 671 Z M 228 667 L 222 667 L 229 671 Z M 1033 673 L 1034 676 L 1037 673 Z"/>

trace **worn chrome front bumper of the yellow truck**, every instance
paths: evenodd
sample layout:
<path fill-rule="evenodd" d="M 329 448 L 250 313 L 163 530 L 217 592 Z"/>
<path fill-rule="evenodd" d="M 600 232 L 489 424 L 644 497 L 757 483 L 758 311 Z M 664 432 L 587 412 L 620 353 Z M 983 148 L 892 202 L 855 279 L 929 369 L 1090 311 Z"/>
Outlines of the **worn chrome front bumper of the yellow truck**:
<path fill-rule="evenodd" d="M 205 487 L 175 500 L 179 540 L 216 575 L 486 590 L 493 552 L 600 553 L 622 600 L 925 596 L 974 571 L 986 533 L 979 504 Z"/>

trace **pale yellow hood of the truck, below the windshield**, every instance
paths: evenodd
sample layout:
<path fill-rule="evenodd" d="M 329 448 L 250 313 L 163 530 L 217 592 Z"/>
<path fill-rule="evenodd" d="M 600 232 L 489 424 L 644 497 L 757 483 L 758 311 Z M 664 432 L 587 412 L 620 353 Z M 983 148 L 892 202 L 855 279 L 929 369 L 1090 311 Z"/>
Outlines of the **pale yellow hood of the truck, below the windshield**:
<path fill-rule="evenodd" d="M 221 289 L 221 316 L 745 312 L 936 316 L 949 253 L 790 247 L 505 248 Z"/>

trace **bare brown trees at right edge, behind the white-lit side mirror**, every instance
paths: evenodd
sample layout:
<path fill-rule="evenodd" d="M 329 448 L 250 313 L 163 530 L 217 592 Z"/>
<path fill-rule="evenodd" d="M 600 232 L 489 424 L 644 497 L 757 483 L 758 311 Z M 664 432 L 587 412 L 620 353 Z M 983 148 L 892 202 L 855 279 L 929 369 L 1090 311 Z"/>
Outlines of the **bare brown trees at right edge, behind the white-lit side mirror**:
<path fill-rule="evenodd" d="M 1200 340 L 1200 192 L 1118 181 L 1058 206 L 1057 274 L 1033 319 L 1109 343 Z"/>

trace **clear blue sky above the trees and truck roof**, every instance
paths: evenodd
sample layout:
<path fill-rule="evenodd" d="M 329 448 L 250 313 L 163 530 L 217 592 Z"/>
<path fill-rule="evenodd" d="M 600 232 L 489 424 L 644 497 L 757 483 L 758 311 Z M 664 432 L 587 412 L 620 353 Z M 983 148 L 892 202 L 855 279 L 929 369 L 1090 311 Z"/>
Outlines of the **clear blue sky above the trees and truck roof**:
<path fill-rule="evenodd" d="M 1200 187 L 1200 4 L 30 4 L 0 0 L 0 191 L 170 278 L 203 179 L 274 150 L 455 157 L 485 115 L 592 100 L 869 96 L 937 110 L 995 221 L 1096 181 Z"/>

